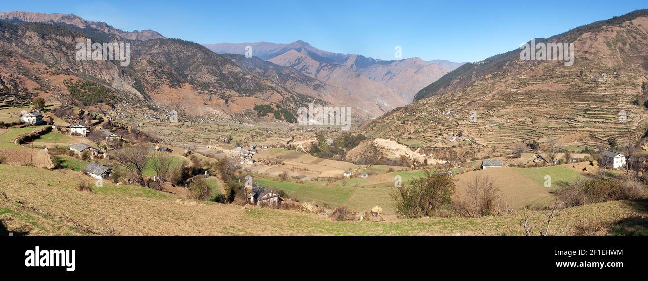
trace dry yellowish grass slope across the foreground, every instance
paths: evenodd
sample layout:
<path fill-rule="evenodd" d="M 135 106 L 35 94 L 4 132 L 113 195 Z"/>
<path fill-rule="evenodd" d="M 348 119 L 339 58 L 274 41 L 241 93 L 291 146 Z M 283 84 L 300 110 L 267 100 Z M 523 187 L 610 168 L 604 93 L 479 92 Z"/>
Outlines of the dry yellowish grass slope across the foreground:
<path fill-rule="evenodd" d="M 325 216 L 179 200 L 172 194 L 91 178 L 74 171 L 0 165 L 0 221 L 29 235 L 522 235 L 522 211 L 483 218 L 333 222 Z M 608 202 L 567 209 L 554 234 L 636 234 L 625 225 L 648 216 L 648 202 Z M 544 214 L 533 218 L 542 225 Z M 573 225 L 579 225 L 578 227 Z M 564 231 L 559 232 L 559 230 Z M 641 229 L 639 229 L 641 230 Z M 644 229 L 645 231 L 645 229 Z"/>

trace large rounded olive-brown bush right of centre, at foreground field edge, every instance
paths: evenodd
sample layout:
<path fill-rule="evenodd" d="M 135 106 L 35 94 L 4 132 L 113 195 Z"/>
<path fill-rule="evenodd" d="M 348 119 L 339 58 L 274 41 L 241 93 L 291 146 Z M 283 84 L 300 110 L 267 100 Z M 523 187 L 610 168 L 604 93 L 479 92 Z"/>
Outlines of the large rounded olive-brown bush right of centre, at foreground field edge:
<path fill-rule="evenodd" d="M 452 174 L 425 171 L 424 176 L 412 180 L 391 194 L 394 207 L 402 216 L 415 218 L 432 216 L 450 206 L 455 183 Z"/>

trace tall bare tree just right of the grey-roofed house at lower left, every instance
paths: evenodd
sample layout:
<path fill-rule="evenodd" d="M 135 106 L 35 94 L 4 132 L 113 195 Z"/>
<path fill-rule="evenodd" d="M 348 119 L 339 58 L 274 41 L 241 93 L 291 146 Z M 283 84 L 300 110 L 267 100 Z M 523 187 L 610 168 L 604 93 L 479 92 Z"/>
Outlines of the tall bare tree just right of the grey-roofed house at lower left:
<path fill-rule="evenodd" d="M 131 180 L 143 187 L 147 187 L 144 170 L 150 156 L 145 145 L 135 145 L 115 150 L 112 152 L 111 159 L 128 171 Z"/>

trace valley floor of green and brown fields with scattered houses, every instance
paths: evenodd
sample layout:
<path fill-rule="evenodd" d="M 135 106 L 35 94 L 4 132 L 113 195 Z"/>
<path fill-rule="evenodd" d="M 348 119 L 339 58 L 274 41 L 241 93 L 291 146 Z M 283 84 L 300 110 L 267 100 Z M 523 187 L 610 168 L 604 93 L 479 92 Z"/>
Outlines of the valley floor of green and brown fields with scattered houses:
<path fill-rule="evenodd" d="M 501 193 L 499 196 L 510 204 L 509 209 L 500 214 L 503 217 L 519 216 L 529 206 L 540 210 L 551 205 L 551 193 L 568 182 L 601 175 L 625 177 L 630 172 L 625 166 L 629 160 L 619 152 L 605 151 L 600 156 L 596 156 L 596 152 L 582 151 L 542 152 L 533 149 L 533 145 L 518 150 L 518 155 L 474 160 L 458 166 L 447 163 L 412 165 L 406 158 L 394 160 L 393 165 L 358 165 L 308 154 L 308 149 L 304 149 L 308 145 L 302 142 L 316 143 L 313 140 L 317 139 L 314 132 L 309 131 L 290 139 L 274 134 L 262 136 L 253 131 L 246 132 L 245 137 L 240 132 L 231 135 L 225 132 L 227 136 L 210 137 L 208 145 L 200 141 L 194 145 L 177 145 L 152 137 L 150 128 L 161 127 L 140 125 L 133 128 L 111 116 L 92 110 L 65 109 L 62 105 L 34 107 L 0 111 L 0 114 L 18 112 L 14 116 L 16 123 L 9 123 L 10 127 L 3 129 L 0 135 L 5 141 L 0 151 L 3 169 L 13 169 L 9 168 L 13 166 L 61 171 L 63 173 L 57 177 L 72 177 L 73 182 L 78 182 L 78 187 L 71 187 L 78 189 L 77 193 L 104 192 L 119 186 L 132 189 L 129 193 L 145 188 L 168 194 L 164 196 L 170 196 L 180 205 L 209 206 L 218 202 L 216 204 L 239 205 L 249 210 L 279 209 L 279 212 L 296 212 L 334 223 L 400 224 L 410 220 L 399 213 L 391 198 L 394 179 L 400 178 L 402 184 L 407 185 L 425 176 L 424 172 L 429 169 L 456 178 L 457 198 L 469 194 L 474 178 L 492 177 Z M 23 111 L 27 114 L 19 116 Z M 75 115 L 57 116 L 55 112 Z M 33 121 L 33 116 L 54 121 L 44 125 L 45 121 Z M 167 123 L 167 126 L 175 125 L 174 130 L 185 135 L 196 134 L 194 140 L 200 140 L 196 139 L 199 134 L 224 133 L 198 123 L 179 124 Z M 130 149 L 133 157 L 119 153 L 124 149 Z M 124 165 L 121 162 L 124 157 L 135 164 Z M 137 164 L 137 158 L 142 162 Z M 133 169 L 134 172 L 129 169 L 138 165 L 141 174 L 137 169 Z M 553 186 L 546 186 L 546 175 L 553 178 Z M 525 184 L 522 191 L 520 183 Z M 541 215 L 540 211 L 534 212 Z M 623 213 L 614 214 L 617 215 Z M 516 225 L 511 224 L 508 231 L 524 234 L 524 229 Z"/>

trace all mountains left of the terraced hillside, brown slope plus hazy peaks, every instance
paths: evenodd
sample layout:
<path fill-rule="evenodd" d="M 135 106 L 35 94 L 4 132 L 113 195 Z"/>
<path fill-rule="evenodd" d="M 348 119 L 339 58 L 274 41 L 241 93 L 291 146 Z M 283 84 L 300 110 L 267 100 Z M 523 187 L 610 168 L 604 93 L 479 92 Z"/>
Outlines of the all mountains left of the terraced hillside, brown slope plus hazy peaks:
<path fill-rule="evenodd" d="M 3 48 L 14 56 L 145 101 L 191 108 L 194 114 L 240 114 L 259 104 L 296 109 L 314 102 L 353 107 L 354 115 L 375 118 L 410 103 L 422 87 L 461 65 L 419 58 L 382 61 L 319 50 L 303 41 L 223 43 L 206 45 L 208 49 L 153 30 L 127 32 L 71 14 L 1 12 L 0 21 L 6 31 L 0 38 Z M 39 39 L 29 39 L 31 32 Z M 84 38 L 96 43 L 130 41 L 131 64 L 77 61 L 75 44 Z M 22 48 L 27 41 L 39 52 Z M 235 56 L 244 54 L 248 45 L 255 57 Z M 37 78 L 27 65 L 21 69 L 26 70 L 21 78 L 12 79 L 16 85 L 43 86 L 51 80 Z M 64 85 L 54 88 L 65 91 Z"/>

